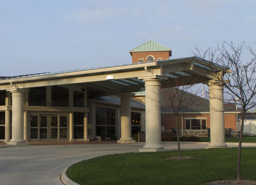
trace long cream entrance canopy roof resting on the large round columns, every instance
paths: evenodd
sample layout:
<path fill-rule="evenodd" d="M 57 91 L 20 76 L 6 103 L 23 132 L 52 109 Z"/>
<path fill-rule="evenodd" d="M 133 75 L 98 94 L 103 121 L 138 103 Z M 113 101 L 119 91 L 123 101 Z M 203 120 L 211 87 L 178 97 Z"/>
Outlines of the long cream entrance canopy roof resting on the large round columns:
<path fill-rule="evenodd" d="M 188 57 L 17 77 L 0 77 L 0 90 L 13 87 L 30 88 L 49 85 L 81 84 L 87 87 L 89 93 L 87 96 L 93 98 L 117 93 L 139 92 L 142 90 L 141 88 L 145 87 L 145 82 L 140 76 L 165 76 L 164 81 L 169 84 L 184 76 L 191 78 L 200 77 L 197 83 L 207 82 L 214 79 L 214 73 L 211 75 L 213 71 L 204 64 L 204 61 L 198 57 Z M 202 71 L 205 71 L 205 73 Z"/>

